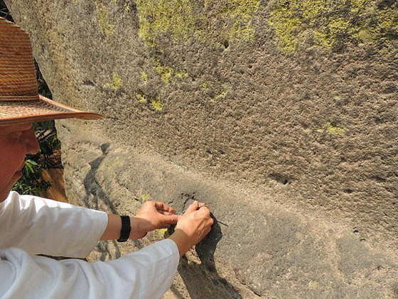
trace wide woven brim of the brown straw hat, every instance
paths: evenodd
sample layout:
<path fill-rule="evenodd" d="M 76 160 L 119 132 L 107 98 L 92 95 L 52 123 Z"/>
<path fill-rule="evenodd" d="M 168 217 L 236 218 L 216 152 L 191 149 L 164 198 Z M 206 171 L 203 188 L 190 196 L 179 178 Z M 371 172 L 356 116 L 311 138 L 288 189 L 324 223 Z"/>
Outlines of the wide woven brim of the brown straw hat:
<path fill-rule="evenodd" d="M 102 115 L 76 110 L 39 95 L 38 100 L 0 101 L 0 125 L 78 118 L 98 120 Z"/>

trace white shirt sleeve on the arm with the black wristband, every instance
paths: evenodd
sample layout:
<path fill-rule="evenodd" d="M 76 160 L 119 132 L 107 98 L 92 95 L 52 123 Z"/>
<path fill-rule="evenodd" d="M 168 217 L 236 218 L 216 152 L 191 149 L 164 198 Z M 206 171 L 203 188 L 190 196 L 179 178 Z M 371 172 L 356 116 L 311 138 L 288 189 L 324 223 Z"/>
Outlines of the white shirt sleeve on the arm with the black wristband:
<path fill-rule="evenodd" d="M 0 248 L 85 258 L 104 233 L 107 221 L 103 211 L 10 192 L 0 203 Z"/>

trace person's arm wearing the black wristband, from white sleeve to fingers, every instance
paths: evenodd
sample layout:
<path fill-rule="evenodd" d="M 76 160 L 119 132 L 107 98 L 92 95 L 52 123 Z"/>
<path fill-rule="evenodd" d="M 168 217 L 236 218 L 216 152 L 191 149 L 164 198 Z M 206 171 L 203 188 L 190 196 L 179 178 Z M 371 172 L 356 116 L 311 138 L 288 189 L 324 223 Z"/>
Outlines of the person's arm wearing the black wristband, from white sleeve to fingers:
<path fill-rule="evenodd" d="M 129 238 L 176 224 L 176 211 L 160 201 L 147 201 L 131 216 Z M 18 247 L 31 254 L 85 258 L 99 240 L 120 237 L 120 216 L 38 196 L 11 192 L 0 203 L 0 248 Z"/>

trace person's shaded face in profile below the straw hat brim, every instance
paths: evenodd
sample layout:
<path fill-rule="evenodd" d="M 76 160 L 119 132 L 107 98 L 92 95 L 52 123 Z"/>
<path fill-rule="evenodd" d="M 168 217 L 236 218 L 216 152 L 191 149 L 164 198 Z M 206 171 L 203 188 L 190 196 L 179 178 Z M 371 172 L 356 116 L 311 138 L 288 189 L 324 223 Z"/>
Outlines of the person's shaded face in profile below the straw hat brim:
<path fill-rule="evenodd" d="M 0 126 L 0 201 L 21 178 L 26 154 L 36 154 L 38 150 L 31 122 Z"/>

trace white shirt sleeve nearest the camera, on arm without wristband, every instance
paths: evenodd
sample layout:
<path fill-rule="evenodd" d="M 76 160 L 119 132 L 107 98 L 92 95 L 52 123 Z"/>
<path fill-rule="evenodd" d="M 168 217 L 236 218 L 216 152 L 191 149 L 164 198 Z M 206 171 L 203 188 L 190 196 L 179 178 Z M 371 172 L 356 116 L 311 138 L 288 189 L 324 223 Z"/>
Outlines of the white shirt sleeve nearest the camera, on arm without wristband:
<path fill-rule="evenodd" d="M 179 254 L 166 239 L 106 262 L 55 261 L 20 248 L 0 258 L 0 298 L 156 299 L 170 288 Z"/>

